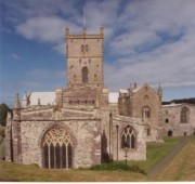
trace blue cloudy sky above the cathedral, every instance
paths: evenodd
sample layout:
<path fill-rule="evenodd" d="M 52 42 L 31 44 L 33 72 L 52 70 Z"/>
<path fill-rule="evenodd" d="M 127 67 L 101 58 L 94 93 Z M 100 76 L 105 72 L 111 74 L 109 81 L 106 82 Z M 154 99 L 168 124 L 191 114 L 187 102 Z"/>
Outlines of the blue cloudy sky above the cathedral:
<path fill-rule="evenodd" d="M 84 13 L 83 13 L 84 10 Z M 84 14 L 84 16 L 83 16 Z M 195 97 L 194 0 L 0 0 L 0 103 L 66 87 L 65 28 L 104 27 L 104 86 Z"/>

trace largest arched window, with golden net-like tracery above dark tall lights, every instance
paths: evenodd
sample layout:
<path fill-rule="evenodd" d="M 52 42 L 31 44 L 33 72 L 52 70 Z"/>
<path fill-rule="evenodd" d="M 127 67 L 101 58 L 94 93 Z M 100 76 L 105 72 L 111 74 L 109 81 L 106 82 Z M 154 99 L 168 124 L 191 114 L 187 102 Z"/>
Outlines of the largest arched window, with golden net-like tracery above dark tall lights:
<path fill-rule="evenodd" d="M 56 126 L 44 134 L 42 154 L 44 168 L 72 168 L 73 144 L 64 128 Z"/>

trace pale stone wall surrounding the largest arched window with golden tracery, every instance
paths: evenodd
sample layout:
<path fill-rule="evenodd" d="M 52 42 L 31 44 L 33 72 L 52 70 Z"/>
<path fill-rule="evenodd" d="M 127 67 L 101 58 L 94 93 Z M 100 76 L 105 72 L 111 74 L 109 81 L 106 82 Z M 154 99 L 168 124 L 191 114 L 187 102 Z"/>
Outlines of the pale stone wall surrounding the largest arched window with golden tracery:
<path fill-rule="evenodd" d="M 38 163 L 42 167 L 41 140 L 43 134 L 53 126 L 62 124 L 75 136 L 73 167 L 89 167 L 101 162 L 100 121 L 68 120 L 68 121 L 23 121 L 22 128 L 22 162 Z M 36 134 L 35 134 L 36 132 Z"/>

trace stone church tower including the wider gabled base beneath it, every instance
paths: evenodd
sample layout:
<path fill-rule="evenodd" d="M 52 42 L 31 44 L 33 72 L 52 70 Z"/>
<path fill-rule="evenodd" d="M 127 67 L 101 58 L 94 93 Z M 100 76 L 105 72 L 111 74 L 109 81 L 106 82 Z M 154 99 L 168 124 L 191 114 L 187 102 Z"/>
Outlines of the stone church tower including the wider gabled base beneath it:
<path fill-rule="evenodd" d="M 103 27 L 100 34 L 72 35 L 66 28 L 67 88 L 56 89 L 58 106 L 99 107 L 108 104 L 103 82 Z"/>

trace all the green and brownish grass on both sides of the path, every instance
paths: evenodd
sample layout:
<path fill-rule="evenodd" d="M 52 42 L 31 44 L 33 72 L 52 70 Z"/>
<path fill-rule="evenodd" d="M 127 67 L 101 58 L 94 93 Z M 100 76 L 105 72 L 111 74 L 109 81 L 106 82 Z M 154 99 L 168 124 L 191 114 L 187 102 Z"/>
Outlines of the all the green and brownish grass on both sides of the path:
<path fill-rule="evenodd" d="M 181 137 L 166 137 L 165 143 L 150 143 L 147 160 L 134 161 L 140 168 L 148 171 L 165 158 L 179 143 Z M 191 150 L 191 152 L 188 152 Z M 195 180 L 195 136 L 188 136 L 186 145 L 160 171 L 155 181 L 193 181 Z M 132 163 L 132 161 L 129 161 Z M 42 169 L 36 165 L 20 165 L 0 161 L 0 181 L 25 182 L 134 182 L 150 181 L 147 175 L 128 171 L 91 171 L 89 169 L 56 170 Z"/>

